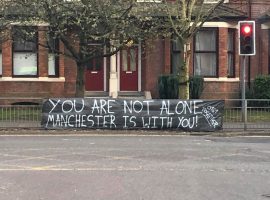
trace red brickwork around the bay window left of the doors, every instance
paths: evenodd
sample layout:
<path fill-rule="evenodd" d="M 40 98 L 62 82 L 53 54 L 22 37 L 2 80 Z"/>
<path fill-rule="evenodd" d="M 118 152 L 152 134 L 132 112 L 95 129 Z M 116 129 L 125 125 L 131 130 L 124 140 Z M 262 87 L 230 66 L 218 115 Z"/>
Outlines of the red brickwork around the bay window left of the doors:
<path fill-rule="evenodd" d="M 45 44 L 45 27 L 39 27 L 39 43 Z M 60 43 L 60 50 L 64 45 Z M 12 78 L 12 42 L 7 40 L 2 44 L 2 79 L 0 80 L 0 97 L 68 97 L 75 94 L 76 64 L 74 61 L 60 56 L 59 77 L 48 78 L 48 50 L 38 47 L 37 78 Z M 65 81 L 62 80 L 65 78 Z M 8 79 L 8 80 L 7 80 Z"/>

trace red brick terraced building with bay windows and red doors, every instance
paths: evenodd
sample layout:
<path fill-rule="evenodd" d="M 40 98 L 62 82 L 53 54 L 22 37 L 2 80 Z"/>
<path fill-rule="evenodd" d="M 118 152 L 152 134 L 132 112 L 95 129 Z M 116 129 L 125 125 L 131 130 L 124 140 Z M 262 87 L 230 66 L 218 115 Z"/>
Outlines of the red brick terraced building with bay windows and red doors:
<path fill-rule="evenodd" d="M 209 1 L 211 2 L 211 1 Z M 247 81 L 257 74 L 270 73 L 270 0 L 225 1 L 219 17 L 206 22 L 194 37 L 190 76 L 202 75 L 202 98 L 239 98 L 240 63 L 237 43 L 239 20 L 256 21 L 256 56 L 248 62 Z M 37 43 L 44 42 L 45 29 L 38 27 Z M 16 41 L 2 44 L 0 97 L 73 97 L 76 89 L 76 64 L 54 56 L 46 48 Z M 57 44 L 61 51 L 64 45 Z M 157 80 L 174 73 L 181 53 L 170 38 L 138 41 L 111 58 L 96 59 L 85 71 L 85 96 L 121 96 L 149 91 L 159 98 Z"/>

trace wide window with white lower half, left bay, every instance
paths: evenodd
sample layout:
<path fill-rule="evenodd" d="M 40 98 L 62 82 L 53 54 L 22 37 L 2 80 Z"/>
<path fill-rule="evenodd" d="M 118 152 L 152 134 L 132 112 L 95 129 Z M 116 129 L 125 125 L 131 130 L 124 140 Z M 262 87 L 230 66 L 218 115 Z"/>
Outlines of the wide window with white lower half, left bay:
<path fill-rule="evenodd" d="M 34 27 L 13 29 L 13 75 L 37 76 L 37 30 Z"/>

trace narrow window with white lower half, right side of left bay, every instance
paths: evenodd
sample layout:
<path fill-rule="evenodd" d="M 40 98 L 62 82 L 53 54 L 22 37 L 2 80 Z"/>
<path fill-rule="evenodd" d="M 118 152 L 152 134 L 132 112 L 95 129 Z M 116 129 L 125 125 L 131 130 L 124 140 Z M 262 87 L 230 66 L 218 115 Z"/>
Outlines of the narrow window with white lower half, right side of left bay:
<path fill-rule="evenodd" d="M 52 37 L 48 39 L 48 75 L 49 77 L 59 76 L 59 55 L 56 51 L 59 50 L 59 41 Z"/>

